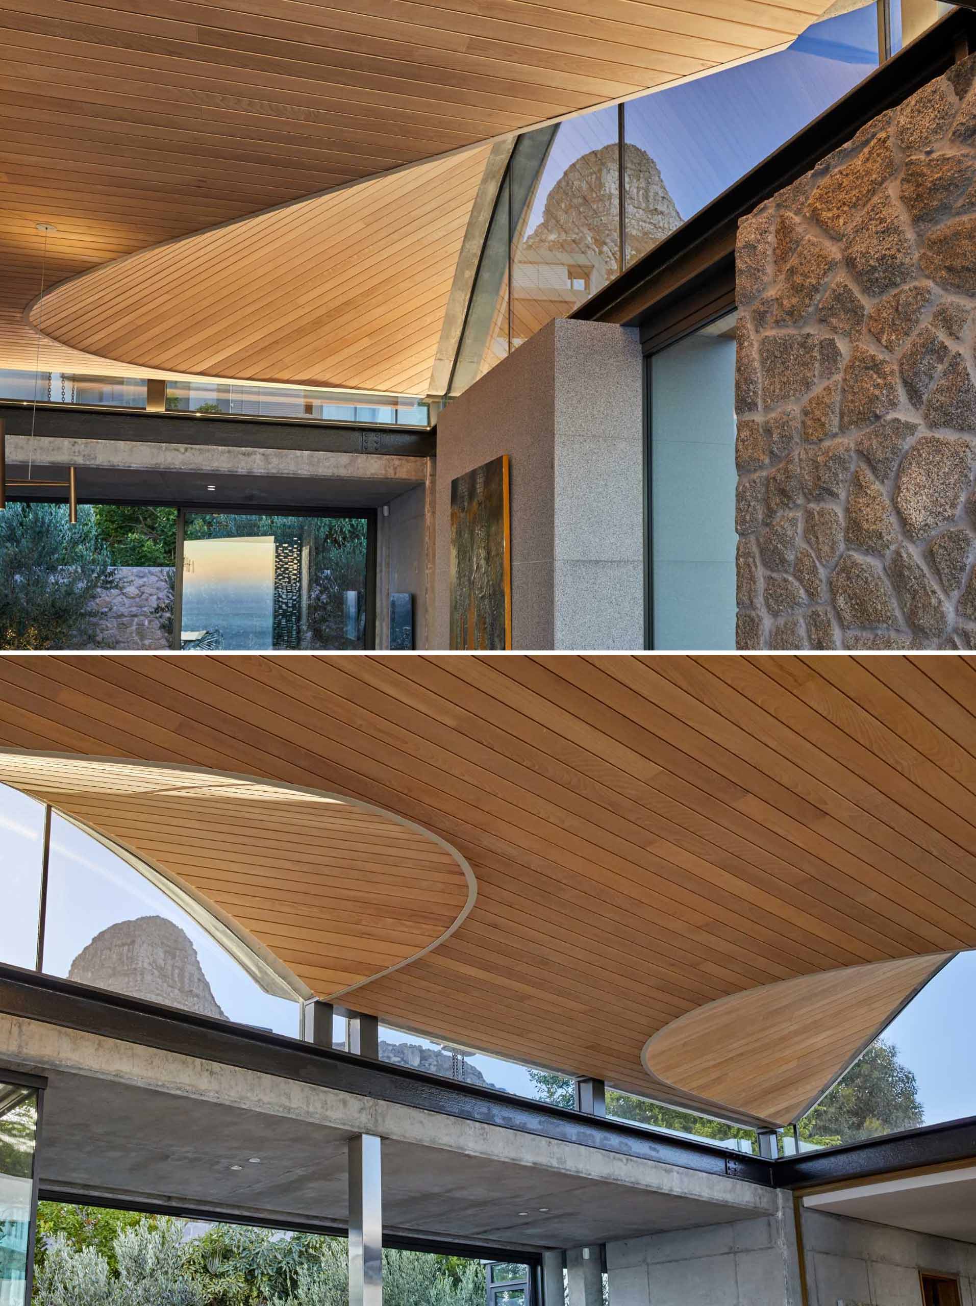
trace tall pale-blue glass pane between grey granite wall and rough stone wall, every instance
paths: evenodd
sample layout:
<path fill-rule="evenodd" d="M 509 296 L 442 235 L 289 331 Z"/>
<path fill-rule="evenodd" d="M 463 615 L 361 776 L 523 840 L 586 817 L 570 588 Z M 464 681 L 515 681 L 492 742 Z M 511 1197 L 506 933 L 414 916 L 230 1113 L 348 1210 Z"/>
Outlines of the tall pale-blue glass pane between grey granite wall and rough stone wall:
<path fill-rule="evenodd" d="M 651 360 L 656 649 L 736 646 L 734 321 Z"/>

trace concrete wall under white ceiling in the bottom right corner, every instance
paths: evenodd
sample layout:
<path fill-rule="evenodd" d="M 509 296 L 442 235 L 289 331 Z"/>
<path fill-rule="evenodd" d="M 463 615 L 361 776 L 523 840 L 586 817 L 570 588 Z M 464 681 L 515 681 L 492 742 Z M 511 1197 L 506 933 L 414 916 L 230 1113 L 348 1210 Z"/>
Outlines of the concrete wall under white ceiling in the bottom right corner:
<path fill-rule="evenodd" d="M 822 1211 L 804 1212 L 810 1306 L 921 1306 L 919 1271 L 959 1275 L 963 1306 L 976 1301 L 976 1246 Z"/>

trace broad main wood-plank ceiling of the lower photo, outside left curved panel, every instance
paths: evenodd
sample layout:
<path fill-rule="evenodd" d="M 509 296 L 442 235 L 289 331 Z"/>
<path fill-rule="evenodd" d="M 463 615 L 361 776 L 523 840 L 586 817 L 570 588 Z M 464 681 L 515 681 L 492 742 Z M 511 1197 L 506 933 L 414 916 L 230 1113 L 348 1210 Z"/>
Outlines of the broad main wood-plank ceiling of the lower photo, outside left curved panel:
<path fill-rule="evenodd" d="M 0 660 L 5 748 L 306 785 L 456 848 L 470 916 L 362 1010 L 668 1101 L 707 1087 L 736 1118 L 815 1097 L 976 946 L 975 717 L 963 654 Z M 678 1045 L 677 1088 L 642 1067 L 689 1012 L 841 968 L 864 969 L 787 1008 L 785 1051 L 776 1020 L 747 1024 L 753 1096 L 740 1020 L 704 1068 Z"/>

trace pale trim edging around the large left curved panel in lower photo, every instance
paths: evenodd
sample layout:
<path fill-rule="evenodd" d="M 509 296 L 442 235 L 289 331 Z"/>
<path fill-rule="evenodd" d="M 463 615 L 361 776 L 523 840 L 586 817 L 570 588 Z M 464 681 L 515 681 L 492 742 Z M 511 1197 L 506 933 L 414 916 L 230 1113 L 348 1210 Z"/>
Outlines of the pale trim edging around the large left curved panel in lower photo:
<path fill-rule="evenodd" d="M 436 938 L 430 940 L 422 948 L 415 949 L 409 956 L 402 957 L 401 960 L 393 963 L 392 965 L 388 965 L 382 970 L 375 972 L 374 974 L 368 974 L 354 983 L 340 986 L 325 994 L 316 994 L 298 974 L 295 974 L 295 972 L 291 968 L 287 966 L 285 961 L 282 961 L 281 957 L 278 957 L 267 944 L 264 944 L 251 930 L 246 929 L 238 919 L 235 919 L 233 913 L 223 909 L 212 897 L 199 892 L 183 876 L 175 874 L 170 867 L 165 866 L 158 858 L 148 855 L 146 852 L 142 849 L 135 849 L 127 846 L 123 841 L 119 840 L 118 835 L 114 835 L 111 832 L 111 829 L 101 828 L 99 825 L 94 824 L 90 819 L 77 818 L 71 811 L 61 807 L 56 801 L 56 798 L 46 797 L 42 793 L 35 791 L 33 788 L 27 788 L 25 782 L 18 784 L 16 780 L 8 778 L 10 759 L 64 761 L 74 768 L 86 765 L 119 767 L 129 773 L 136 771 L 166 772 L 166 773 L 179 772 L 187 776 L 204 777 L 208 780 L 213 778 L 216 781 L 229 781 L 235 785 L 255 785 L 261 789 L 281 790 L 282 793 L 290 795 L 304 795 L 317 801 L 328 801 L 333 803 L 340 803 L 345 807 L 353 807 L 357 811 L 367 812 L 372 816 L 380 816 L 383 820 L 388 820 L 396 827 L 419 835 L 423 840 L 427 840 L 429 842 L 436 845 L 439 849 L 447 853 L 448 857 L 456 863 L 457 868 L 460 870 L 464 878 L 466 888 L 465 901 L 460 912 L 455 914 L 451 923 L 444 930 L 442 930 Z M 451 938 L 451 935 L 453 935 L 455 931 L 460 929 L 460 926 L 464 923 L 468 916 L 470 916 L 478 896 L 477 878 L 470 865 L 468 863 L 466 858 L 440 835 L 436 835 L 432 831 L 426 829 L 417 821 L 409 820 L 408 818 L 401 816 L 397 812 L 388 811 L 387 808 L 380 807 L 375 803 L 367 803 L 363 799 L 350 798 L 348 794 L 340 794 L 332 790 L 317 789 L 307 785 L 294 785 L 285 781 L 267 780 L 260 776 L 252 776 L 243 772 L 218 771 L 216 768 L 197 767 L 193 765 L 192 763 L 141 761 L 132 757 L 112 757 L 112 756 L 95 756 L 95 755 L 85 755 L 82 757 L 78 756 L 77 754 L 71 754 L 71 752 L 31 750 L 31 748 L 12 748 L 12 747 L 0 748 L 0 784 L 8 784 L 10 785 L 10 788 L 18 789 L 21 793 L 29 794 L 29 797 L 37 798 L 39 802 L 48 803 L 52 811 L 59 812 L 67 820 L 72 821 L 74 825 L 82 829 L 86 835 L 90 835 L 93 838 L 98 840 L 105 846 L 107 846 L 111 852 L 120 855 L 140 874 L 144 874 L 142 867 L 154 871 L 155 875 L 153 879 L 158 878 L 158 880 L 174 885 L 176 889 L 180 891 L 182 896 L 186 896 L 192 902 L 195 902 L 203 912 L 210 916 L 213 921 L 216 921 L 220 926 L 227 930 L 234 938 L 236 938 L 240 943 L 243 943 L 244 947 L 247 947 L 265 966 L 268 966 L 273 972 L 273 974 L 280 981 L 284 982 L 284 985 L 287 986 L 287 989 L 291 990 L 289 996 L 293 996 L 295 999 L 307 1000 L 311 998 L 320 998 L 324 1002 L 333 1002 L 338 998 L 345 996 L 346 994 L 355 991 L 363 985 L 372 983 L 374 981 L 383 980 L 397 970 L 402 970 L 405 966 L 412 965 L 414 961 L 418 961 L 421 957 L 427 956 L 435 948 L 440 947 L 440 944 L 446 943 Z M 158 887 L 162 889 L 162 892 L 166 892 L 166 888 L 162 884 L 159 884 Z M 186 908 L 186 904 L 180 904 L 179 899 L 174 899 L 174 901 Z M 212 936 L 217 938 L 214 931 L 209 927 L 209 922 L 201 921 L 196 916 L 193 918 L 197 921 L 199 925 L 201 925 L 201 927 L 206 929 L 208 932 L 212 934 Z M 217 942 L 221 943 L 220 938 L 217 938 Z M 226 948 L 225 944 L 221 946 Z M 285 994 L 280 995 L 285 996 Z"/>

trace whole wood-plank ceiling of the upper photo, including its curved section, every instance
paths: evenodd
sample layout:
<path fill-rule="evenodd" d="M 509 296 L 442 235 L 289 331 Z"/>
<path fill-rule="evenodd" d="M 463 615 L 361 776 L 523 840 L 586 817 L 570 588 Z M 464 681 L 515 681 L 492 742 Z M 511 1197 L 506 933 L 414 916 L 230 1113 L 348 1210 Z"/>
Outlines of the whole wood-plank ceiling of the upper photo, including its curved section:
<path fill-rule="evenodd" d="M 826 3 L 3 0 L 0 368 L 423 394 L 478 185 L 464 165 L 422 188 L 435 222 L 412 200 L 412 225 L 406 183 L 375 201 L 392 225 L 368 191 L 345 231 L 321 204 L 346 272 L 259 226 L 227 295 L 170 242 L 777 48 Z M 59 227 L 63 285 L 30 326 L 37 222 Z"/>

